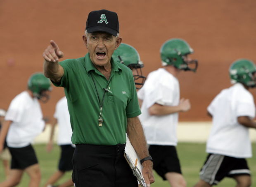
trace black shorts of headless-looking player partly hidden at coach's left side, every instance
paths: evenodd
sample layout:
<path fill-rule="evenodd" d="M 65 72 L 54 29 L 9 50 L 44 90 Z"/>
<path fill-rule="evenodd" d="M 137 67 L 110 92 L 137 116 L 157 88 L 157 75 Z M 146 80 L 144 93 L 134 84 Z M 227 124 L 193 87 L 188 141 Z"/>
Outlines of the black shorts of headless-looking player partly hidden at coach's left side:
<path fill-rule="evenodd" d="M 59 159 L 59 171 L 70 171 L 73 169 L 72 157 L 75 148 L 71 145 L 60 145 L 61 155 Z"/>

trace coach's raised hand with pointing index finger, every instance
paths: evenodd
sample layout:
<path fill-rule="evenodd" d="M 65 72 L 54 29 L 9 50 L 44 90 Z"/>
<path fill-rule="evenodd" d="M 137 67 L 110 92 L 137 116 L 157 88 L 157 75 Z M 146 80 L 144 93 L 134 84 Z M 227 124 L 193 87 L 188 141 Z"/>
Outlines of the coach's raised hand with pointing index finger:
<path fill-rule="evenodd" d="M 59 58 L 62 58 L 64 53 L 59 50 L 59 46 L 53 40 L 50 41 L 50 46 L 47 46 L 43 52 L 43 58 L 47 62 L 57 62 Z"/>

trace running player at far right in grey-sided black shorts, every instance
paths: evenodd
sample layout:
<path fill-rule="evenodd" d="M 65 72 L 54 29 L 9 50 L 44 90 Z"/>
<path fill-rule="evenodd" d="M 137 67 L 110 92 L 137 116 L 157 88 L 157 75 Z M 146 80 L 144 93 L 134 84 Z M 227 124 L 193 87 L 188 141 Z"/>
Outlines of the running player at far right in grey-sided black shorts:
<path fill-rule="evenodd" d="M 212 128 L 206 144 L 208 156 L 194 187 L 211 187 L 225 177 L 237 187 L 251 186 L 246 158 L 252 156 L 249 128 L 256 129 L 254 98 L 248 91 L 256 86 L 256 66 L 239 59 L 229 69 L 230 88 L 222 90 L 208 106 Z"/>

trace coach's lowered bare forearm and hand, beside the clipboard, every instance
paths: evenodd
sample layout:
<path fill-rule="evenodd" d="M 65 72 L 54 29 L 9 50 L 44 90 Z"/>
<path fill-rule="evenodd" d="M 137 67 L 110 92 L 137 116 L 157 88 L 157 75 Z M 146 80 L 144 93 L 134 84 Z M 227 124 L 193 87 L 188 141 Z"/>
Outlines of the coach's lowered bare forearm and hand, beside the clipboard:
<path fill-rule="evenodd" d="M 127 135 L 140 159 L 148 157 L 149 152 L 147 149 L 147 143 L 142 125 L 138 117 L 127 118 Z M 150 186 L 149 184 L 154 182 L 154 176 L 152 172 L 153 163 L 151 160 L 147 160 L 142 163 L 142 166 L 142 175 L 147 186 Z"/>

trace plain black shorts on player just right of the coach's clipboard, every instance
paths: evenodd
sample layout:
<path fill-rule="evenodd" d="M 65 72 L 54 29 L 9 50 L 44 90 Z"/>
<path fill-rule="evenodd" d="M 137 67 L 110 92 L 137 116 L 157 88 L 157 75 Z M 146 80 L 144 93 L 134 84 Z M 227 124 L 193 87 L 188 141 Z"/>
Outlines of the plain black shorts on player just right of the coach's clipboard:
<path fill-rule="evenodd" d="M 153 159 L 153 169 L 163 180 L 168 172 L 180 173 L 180 161 L 175 146 L 173 145 L 149 145 L 149 155 Z"/>

